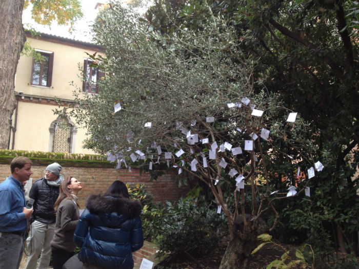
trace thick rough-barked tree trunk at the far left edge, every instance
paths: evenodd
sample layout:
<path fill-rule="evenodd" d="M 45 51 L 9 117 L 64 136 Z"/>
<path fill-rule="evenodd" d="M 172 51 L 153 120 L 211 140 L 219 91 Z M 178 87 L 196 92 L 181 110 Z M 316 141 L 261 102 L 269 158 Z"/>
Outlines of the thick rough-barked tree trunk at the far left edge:
<path fill-rule="evenodd" d="M 8 148 L 10 121 L 16 104 L 15 73 L 26 41 L 23 9 L 24 0 L 0 0 L 0 149 Z"/>

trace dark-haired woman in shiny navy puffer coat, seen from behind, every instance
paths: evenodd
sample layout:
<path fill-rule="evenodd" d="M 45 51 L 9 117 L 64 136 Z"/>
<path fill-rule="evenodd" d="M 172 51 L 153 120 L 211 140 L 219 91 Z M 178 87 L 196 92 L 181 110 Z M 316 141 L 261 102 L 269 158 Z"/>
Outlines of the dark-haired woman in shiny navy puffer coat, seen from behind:
<path fill-rule="evenodd" d="M 103 196 L 89 196 L 73 237 L 81 247 L 78 258 L 85 268 L 133 268 L 132 252 L 144 242 L 141 211 L 141 203 L 131 200 L 119 180 Z"/>

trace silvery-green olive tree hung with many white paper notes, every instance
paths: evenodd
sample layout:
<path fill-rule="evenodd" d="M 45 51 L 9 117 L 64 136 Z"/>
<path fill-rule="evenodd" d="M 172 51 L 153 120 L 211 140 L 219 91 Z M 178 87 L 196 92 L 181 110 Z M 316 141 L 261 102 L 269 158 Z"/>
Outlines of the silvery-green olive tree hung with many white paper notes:
<path fill-rule="evenodd" d="M 279 154 L 291 161 L 290 150 L 302 169 L 314 167 L 316 146 L 302 139 L 310 125 L 295 115 L 287 121 L 293 111 L 254 79 L 256 59 L 240 49 L 235 29 L 209 7 L 205 15 L 200 31 L 174 26 L 173 34 L 162 35 L 111 4 L 93 26 L 106 57 L 89 55 L 93 66 L 106 71 L 101 92 L 74 91 L 75 105 L 67 113 L 87 128 L 86 147 L 108 152 L 117 167 L 124 160 L 148 171 L 167 165 L 204 182 L 228 222 L 230 243 L 221 268 L 239 268 L 256 236 L 274 229 L 274 201 L 304 195 L 309 182 L 298 182 L 298 191 L 291 192 L 292 186 L 289 194 L 292 182 L 285 182 L 271 195 L 280 186 L 270 184 L 266 163 Z M 267 212 L 274 219 L 270 226 L 262 219 Z"/>

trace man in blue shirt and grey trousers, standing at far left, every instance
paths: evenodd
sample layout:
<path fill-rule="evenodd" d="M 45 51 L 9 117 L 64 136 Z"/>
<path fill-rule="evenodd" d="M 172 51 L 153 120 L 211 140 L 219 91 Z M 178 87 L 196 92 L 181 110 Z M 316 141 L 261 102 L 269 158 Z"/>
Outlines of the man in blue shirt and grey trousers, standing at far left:
<path fill-rule="evenodd" d="M 0 184 L 0 269 L 18 269 L 24 252 L 27 219 L 33 209 L 26 208 L 23 182 L 32 174 L 31 160 L 16 157 L 11 175 Z"/>

